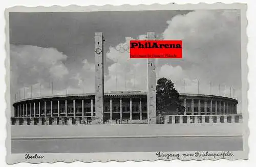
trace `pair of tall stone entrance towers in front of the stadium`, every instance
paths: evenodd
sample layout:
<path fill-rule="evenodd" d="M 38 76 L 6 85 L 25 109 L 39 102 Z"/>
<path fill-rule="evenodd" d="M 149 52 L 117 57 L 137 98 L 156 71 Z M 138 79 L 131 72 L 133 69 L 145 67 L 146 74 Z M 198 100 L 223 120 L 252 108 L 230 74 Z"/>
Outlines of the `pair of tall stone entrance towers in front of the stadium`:
<path fill-rule="evenodd" d="M 148 40 L 155 40 L 154 32 L 147 32 Z M 95 119 L 96 124 L 103 124 L 104 97 L 104 37 L 101 32 L 94 35 L 95 39 Z M 121 116 L 120 116 L 121 117 Z M 112 119 L 112 116 L 110 117 Z M 121 118 L 120 118 L 121 119 Z M 147 59 L 147 124 L 156 124 L 156 60 Z"/>

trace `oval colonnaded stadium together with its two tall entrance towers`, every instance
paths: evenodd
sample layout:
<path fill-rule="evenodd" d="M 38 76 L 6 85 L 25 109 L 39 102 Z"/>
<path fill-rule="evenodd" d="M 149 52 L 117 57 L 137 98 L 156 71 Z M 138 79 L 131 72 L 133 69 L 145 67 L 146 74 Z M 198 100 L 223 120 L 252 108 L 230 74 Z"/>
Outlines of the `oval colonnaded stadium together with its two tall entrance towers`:
<path fill-rule="evenodd" d="M 147 33 L 154 40 L 153 32 Z M 167 124 L 241 122 L 236 99 L 180 94 L 185 113 L 160 116 L 156 112 L 155 59 L 147 61 L 147 92 L 104 93 L 103 35 L 95 33 L 95 93 L 45 96 L 15 101 L 12 125 Z"/>

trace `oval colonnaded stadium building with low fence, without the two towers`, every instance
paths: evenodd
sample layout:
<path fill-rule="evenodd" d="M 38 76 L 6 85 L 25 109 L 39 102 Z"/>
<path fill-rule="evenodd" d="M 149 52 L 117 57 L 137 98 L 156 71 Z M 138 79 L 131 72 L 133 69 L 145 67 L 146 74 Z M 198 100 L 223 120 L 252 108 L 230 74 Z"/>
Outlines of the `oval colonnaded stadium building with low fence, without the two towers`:
<path fill-rule="evenodd" d="M 201 94 L 180 94 L 180 99 L 185 107 L 184 116 L 157 116 L 157 123 L 241 122 L 236 99 Z M 104 124 L 148 122 L 146 92 L 105 93 L 103 101 Z M 13 106 L 13 125 L 97 124 L 95 94 L 29 98 Z"/>

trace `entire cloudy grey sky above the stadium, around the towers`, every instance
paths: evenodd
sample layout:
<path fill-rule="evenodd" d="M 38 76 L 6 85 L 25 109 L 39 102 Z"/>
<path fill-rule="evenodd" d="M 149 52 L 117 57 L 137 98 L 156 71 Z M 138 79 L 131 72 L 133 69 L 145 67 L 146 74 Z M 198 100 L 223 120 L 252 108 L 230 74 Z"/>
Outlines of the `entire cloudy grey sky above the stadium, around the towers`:
<path fill-rule="evenodd" d="M 30 97 L 31 86 L 33 97 L 52 94 L 50 83 L 53 94 L 94 92 L 95 32 L 105 38 L 106 92 L 146 91 L 146 60 L 115 48 L 155 32 L 183 40 L 183 59 L 157 60 L 158 78 L 180 93 L 230 96 L 231 88 L 240 110 L 238 10 L 11 13 L 11 101 Z"/>

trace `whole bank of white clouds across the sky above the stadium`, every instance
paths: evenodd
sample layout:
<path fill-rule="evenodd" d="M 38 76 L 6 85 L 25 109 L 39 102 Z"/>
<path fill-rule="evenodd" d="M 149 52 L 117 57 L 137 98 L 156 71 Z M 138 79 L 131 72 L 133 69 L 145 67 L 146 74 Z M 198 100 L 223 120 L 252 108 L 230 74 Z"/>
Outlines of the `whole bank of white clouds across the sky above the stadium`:
<path fill-rule="evenodd" d="M 183 59 L 179 63 L 172 59 L 161 61 L 157 65 L 157 77 L 172 79 L 181 93 L 198 93 L 198 80 L 201 94 L 210 93 L 209 82 L 211 94 L 225 95 L 225 86 L 232 86 L 241 103 L 239 12 L 199 10 L 177 15 L 166 23 L 160 38 L 183 40 Z M 146 39 L 146 36 L 140 35 L 137 39 Z M 146 91 L 147 61 L 130 59 L 126 50 L 130 40 L 134 38 L 125 37 L 123 43 L 110 47 L 106 53 L 113 64 L 106 68 L 108 72 L 105 71 L 105 91 Z M 33 93 L 38 94 L 39 82 L 41 92 L 49 93 L 50 81 L 54 82 L 56 94 L 66 94 L 67 85 L 69 93 L 95 91 L 95 65 L 88 60 L 83 60 L 82 69 L 71 75 L 63 63 L 67 55 L 54 48 L 11 45 L 10 53 L 14 62 L 11 64 L 12 88 L 26 87 L 26 96 L 29 96 L 30 85 L 35 90 Z"/>

